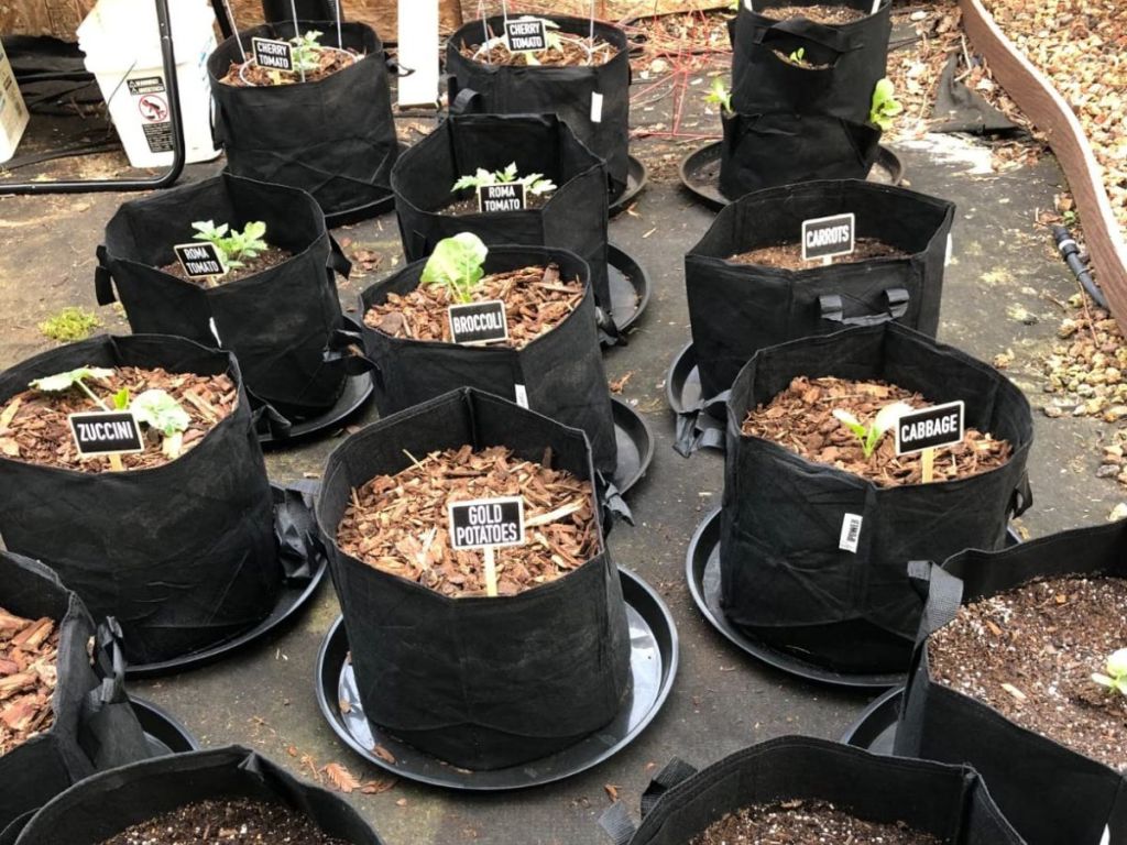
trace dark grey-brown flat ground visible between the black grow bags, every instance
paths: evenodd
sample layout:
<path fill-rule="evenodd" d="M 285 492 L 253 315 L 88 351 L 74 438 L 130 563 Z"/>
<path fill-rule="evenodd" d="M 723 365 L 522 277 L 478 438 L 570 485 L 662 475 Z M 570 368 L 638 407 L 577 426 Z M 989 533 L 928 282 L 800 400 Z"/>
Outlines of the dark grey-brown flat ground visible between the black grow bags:
<path fill-rule="evenodd" d="M 656 161 L 669 149 L 662 144 L 641 141 L 635 152 Z M 1063 317 L 1053 300 L 1064 301 L 1076 290 L 1035 223 L 1036 210 L 1051 207 L 1062 188 L 1058 169 L 1046 158 L 1004 175 L 973 172 L 980 169 L 983 148 L 950 137 L 928 136 L 898 151 L 913 188 L 958 204 L 941 339 L 986 361 L 1011 350 L 1015 358 L 1008 372 L 1035 404 L 1029 469 L 1036 504 L 1022 527 L 1041 535 L 1102 521 L 1120 497 L 1113 481 L 1094 477 L 1106 428 L 1086 419 L 1047 419 L 1036 410 L 1042 403 L 1040 356 Z M 193 168 L 189 178 L 215 167 Z M 35 326 L 62 306 L 98 310 L 94 249 L 106 220 L 125 198 L 0 198 L 0 366 L 50 346 Z M 610 546 L 618 563 L 660 590 L 676 619 L 681 668 L 673 693 L 630 748 L 562 783 L 481 795 L 399 781 L 383 794 L 348 797 L 388 845 L 594 845 L 604 842 L 596 819 L 610 803 L 610 786 L 636 811 L 649 777 L 671 756 L 703 765 L 781 733 L 836 738 L 872 697 L 796 681 L 745 658 L 702 621 L 690 598 L 682 575 L 685 550 L 702 516 L 719 500 L 722 460 L 711 453 L 684 460 L 673 452 L 664 380 L 668 362 L 689 337 L 682 257 L 712 214 L 667 175 L 651 184 L 633 212 L 611 223 L 611 237 L 648 268 L 653 299 L 630 346 L 611 350 L 606 365 L 611 379 L 632 373 L 623 399 L 645 415 L 657 450 L 647 479 L 630 497 L 637 525 L 616 528 Z M 355 293 L 399 255 L 398 232 L 389 214 L 336 234 L 352 239 L 348 252 L 369 249 L 382 256 L 379 270 L 357 273 L 340 285 L 350 308 Z M 108 330 L 127 331 L 110 310 L 98 311 Z M 357 424 L 373 418 L 369 411 Z M 287 482 L 316 475 L 337 443 L 339 436 L 270 454 L 272 478 Z M 337 741 L 313 697 L 314 657 L 337 614 L 336 597 L 326 585 L 279 639 L 210 668 L 137 683 L 134 690 L 183 719 L 204 745 L 241 742 L 307 775 L 311 765 L 339 762 L 361 780 L 378 777 L 379 770 Z"/>

